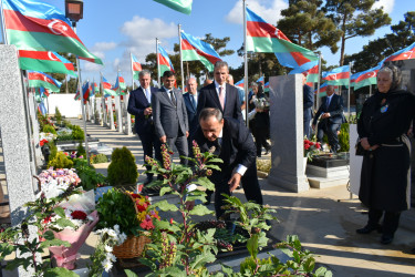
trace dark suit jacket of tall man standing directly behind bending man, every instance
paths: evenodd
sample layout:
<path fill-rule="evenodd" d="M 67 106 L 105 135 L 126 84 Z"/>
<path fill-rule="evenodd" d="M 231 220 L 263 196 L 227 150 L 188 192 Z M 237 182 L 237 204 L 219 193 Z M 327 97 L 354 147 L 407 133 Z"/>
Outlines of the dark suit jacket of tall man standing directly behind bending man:
<path fill-rule="evenodd" d="M 226 84 L 226 100 L 225 100 L 225 111 L 222 110 L 218 93 L 216 92 L 215 82 L 201 88 L 199 98 L 197 101 L 197 116 L 199 116 L 200 111 L 204 107 L 218 107 L 224 117 L 236 119 L 239 122 L 243 122 L 242 113 L 240 111 L 240 100 L 238 94 L 238 89 L 234 85 Z"/>

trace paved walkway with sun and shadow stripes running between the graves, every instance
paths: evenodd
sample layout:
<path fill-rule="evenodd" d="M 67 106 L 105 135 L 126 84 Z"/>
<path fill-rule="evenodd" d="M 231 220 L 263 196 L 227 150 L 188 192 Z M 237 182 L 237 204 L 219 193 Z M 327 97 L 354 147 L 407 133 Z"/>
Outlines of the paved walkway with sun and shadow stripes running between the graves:
<path fill-rule="evenodd" d="M 81 125 L 81 122 L 74 122 Z M 87 133 L 112 147 L 128 147 L 143 171 L 143 152 L 136 136 L 87 124 Z M 108 164 L 96 165 L 106 173 Z M 145 176 L 141 176 L 143 181 Z M 356 196 L 350 199 L 345 186 L 290 193 L 260 179 L 264 203 L 278 211 L 279 223 L 273 223 L 272 236 L 284 239 L 297 234 L 303 246 L 319 255 L 318 261 L 334 276 L 415 276 L 415 255 L 405 254 L 415 247 L 415 209 L 407 211 L 391 245 L 378 243 L 381 235 L 357 235 L 356 228 L 365 225 L 367 215 Z M 236 195 L 243 197 L 242 191 Z M 210 205 L 212 208 L 212 205 Z M 94 247 L 89 239 L 85 248 Z M 87 256 L 83 256 L 87 258 Z"/>

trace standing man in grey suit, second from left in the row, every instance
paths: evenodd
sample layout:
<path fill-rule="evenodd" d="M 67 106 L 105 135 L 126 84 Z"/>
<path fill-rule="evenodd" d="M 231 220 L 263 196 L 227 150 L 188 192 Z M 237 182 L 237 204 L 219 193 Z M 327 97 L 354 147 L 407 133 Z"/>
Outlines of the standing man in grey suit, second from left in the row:
<path fill-rule="evenodd" d="M 176 148 L 181 156 L 188 156 L 187 137 L 189 127 L 187 112 L 181 91 L 174 88 L 176 76 L 172 71 L 163 74 L 163 86 L 152 96 L 154 127 L 159 146 L 167 143 L 172 148 Z M 157 147 L 160 152 L 160 148 Z M 162 160 L 159 160 L 162 161 Z M 181 158 L 181 164 L 187 164 L 187 160 Z"/>

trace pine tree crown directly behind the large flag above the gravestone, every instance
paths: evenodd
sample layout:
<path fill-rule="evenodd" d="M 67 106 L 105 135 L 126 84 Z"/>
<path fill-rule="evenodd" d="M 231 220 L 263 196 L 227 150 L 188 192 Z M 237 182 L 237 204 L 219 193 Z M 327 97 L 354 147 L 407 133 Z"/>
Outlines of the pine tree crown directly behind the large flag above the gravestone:
<path fill-rule="evenodd" d="M 281 11 L 284 18 L 278 21 L 277 28 L 295 44 L 313 51 L 328 47 L 335 53 L 342 31 L 325 17 L 322 3 L 321 0 L 290 0 L 289 8 Z"/>

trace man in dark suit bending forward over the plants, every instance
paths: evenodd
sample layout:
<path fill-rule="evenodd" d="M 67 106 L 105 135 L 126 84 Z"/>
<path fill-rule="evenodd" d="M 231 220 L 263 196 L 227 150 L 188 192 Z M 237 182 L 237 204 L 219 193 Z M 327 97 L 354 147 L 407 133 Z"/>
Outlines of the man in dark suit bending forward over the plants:
<path fill-rule="evenodd" d="M 224 214 L 224 196 L 230 195 L 242 181 L 248 201 L 262 204 L 262 193 L 257 176 L 257 148 L 252 136 L 242 122 L 224 119 L 219 109 L 206 107 L 200 111 L 199 127 L 195 140 L 201 152 L 214 150 L 214 154 L 224 161 L 221 171 L 210 176 L 215 184 L 215 209 L 219 218 Z"/>

